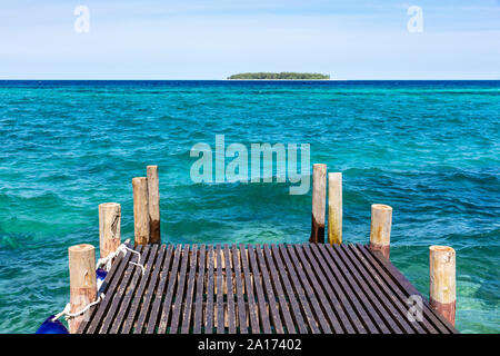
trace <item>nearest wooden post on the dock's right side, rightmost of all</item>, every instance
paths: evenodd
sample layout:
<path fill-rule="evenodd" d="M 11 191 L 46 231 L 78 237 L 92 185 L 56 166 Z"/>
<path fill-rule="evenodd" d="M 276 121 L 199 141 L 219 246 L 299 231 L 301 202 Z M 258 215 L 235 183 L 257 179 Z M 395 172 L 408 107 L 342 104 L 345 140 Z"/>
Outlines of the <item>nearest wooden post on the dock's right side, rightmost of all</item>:
<path fill-rule="evenodd" d="M 430 305 L 454 326 L 456 253 L 448 246 L 429 248 Z"/>

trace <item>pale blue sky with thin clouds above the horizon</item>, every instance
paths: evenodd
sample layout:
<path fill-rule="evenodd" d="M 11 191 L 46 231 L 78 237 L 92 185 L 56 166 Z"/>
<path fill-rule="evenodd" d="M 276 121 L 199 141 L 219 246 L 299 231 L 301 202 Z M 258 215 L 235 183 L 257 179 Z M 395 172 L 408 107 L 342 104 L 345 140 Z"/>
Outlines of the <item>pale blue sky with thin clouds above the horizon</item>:
<path fill-rule="evenodd" d="M 0 3 L 0 79 L 500 79 L 499 0 Z M 73 29 L 79 4 L 89 33 Z M 421 33 L 407 30 L 410 6 Z"/>

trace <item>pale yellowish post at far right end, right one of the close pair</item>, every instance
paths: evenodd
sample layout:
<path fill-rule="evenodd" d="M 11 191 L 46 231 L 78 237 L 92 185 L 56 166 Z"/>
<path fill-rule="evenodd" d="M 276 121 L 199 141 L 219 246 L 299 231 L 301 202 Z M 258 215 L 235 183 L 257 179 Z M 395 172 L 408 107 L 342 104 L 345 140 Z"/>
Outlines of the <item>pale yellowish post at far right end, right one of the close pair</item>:
<path fill-rule="evenodd" d="M 342 244 L 342 174 L 328 174 L 328 241 Z"/>

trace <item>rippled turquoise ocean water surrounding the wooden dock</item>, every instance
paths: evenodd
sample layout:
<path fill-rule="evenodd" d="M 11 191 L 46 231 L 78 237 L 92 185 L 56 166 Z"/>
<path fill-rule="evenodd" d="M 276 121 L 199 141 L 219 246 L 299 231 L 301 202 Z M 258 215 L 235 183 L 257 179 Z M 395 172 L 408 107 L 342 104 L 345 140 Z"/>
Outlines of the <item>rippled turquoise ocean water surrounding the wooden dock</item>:
<path fill-rule="evenodd" d="M 160 169 L 162 240 L 302 243 L 311 191 L 194 184 L 216 135 L 310 144 L 343 174 L 343 239 L 393 207 L 391 260 L 428 295 L 430 245 L 457 250 L 457 328 L 500 333 L 500 81 L 0 81 L 0 333 L 34 333 L 69 300 L 70 245 L 98 248 L 98 205 Z"/>

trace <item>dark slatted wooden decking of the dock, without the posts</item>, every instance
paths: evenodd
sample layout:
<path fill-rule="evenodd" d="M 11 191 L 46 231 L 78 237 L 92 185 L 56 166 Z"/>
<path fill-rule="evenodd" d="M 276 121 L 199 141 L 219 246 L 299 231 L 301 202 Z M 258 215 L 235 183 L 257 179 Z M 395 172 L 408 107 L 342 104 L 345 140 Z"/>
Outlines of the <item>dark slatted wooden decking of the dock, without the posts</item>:
<path fill-rule="evenodd" d="M 449 334 L 417 289 L 361 245 L 148 245 L 118 257 L 79 333 Z M 228 293 L 229 290 L 229 293 Z"/>

